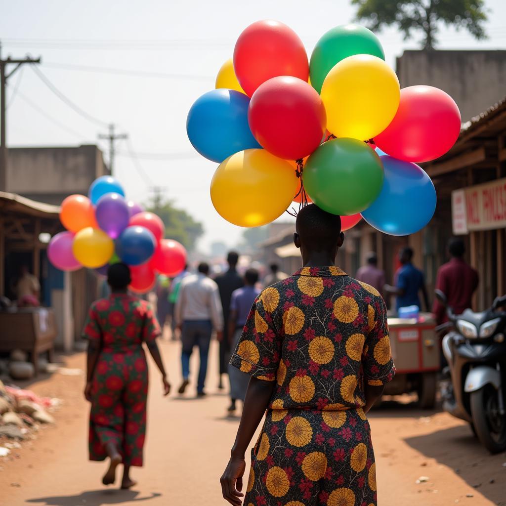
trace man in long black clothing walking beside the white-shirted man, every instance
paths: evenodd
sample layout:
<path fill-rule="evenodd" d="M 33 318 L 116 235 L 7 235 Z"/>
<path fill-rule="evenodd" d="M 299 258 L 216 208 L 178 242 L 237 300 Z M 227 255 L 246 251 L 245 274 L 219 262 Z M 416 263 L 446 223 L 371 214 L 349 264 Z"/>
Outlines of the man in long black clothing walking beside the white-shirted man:
<path fill-rule="evenodd" d="M 219 389 L 223 388 L 222 375 L 227 373 L 227 366 L 230 360 L 230 339 L 228 334 L 228 322 L 230 318 L 230 301 L 232 292 L 244 286 L 242 277 L 237 273 L 239 255 L 235 251 L 229 251 L 227 256 L 228 271 L 216 277 L 216 283 L 220 290 L 220 299 L 223 307 L 223 339 L 220 341 L 220 383 Z"/>

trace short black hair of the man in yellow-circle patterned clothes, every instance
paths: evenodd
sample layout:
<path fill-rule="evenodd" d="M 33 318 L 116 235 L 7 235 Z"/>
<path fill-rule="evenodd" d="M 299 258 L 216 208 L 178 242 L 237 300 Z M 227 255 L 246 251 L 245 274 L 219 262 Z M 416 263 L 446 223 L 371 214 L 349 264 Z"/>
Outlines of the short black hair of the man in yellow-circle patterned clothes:
<path fill-rule="evenodd" d="M 309 204 L 299 211 L 295 227 L 304 244 L 322 250 L 338 242 L 341 217 L 327 213 L 316 204 Z"/>

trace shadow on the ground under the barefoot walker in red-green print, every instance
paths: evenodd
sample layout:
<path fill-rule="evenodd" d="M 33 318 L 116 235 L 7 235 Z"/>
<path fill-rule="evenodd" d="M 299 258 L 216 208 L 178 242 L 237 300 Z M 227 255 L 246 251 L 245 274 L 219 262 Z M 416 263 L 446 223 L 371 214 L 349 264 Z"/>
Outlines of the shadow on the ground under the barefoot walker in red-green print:
<path fill-rule="evenodd" d="M 54 497 L 40 497 L 27 499 L 26 502 L 40 504 L 41 506 L 73 506 L 74 504 L 86 504 L 86 506 L 103 506 L 104 504 L 121 504 L 123 502 L 140 502 L 160 497 L 161 494 L 151 493 L 148 496 L 140 496 L 140 492 L 134 490 L 90 490 L 77 495 L 56 495 Z"/>

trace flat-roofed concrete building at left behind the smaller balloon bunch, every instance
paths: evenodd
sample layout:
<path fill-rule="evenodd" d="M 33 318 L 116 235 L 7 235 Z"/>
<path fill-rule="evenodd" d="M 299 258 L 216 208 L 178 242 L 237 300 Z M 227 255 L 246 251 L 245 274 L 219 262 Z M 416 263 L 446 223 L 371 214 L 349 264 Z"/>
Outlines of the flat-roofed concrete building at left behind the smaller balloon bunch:
<path fill-rule="evenodd" d="M 60 205 L 68 195 L 88 194 L 98 177 L 108 174 L 95 145 L 9 148 L 7 191 Z"/>

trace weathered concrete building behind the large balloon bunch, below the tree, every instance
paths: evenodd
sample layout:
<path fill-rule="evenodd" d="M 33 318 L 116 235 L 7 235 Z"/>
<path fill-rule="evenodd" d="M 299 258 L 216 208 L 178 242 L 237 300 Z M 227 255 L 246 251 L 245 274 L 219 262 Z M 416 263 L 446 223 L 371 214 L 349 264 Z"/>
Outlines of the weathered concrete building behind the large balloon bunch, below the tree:
<path fill-rule="evenodd" d="M 404 51 L 397 58 L 401 88 L 430 85 L 457 103 L 462 122 L 506 93 L 506 51 Z"/>

